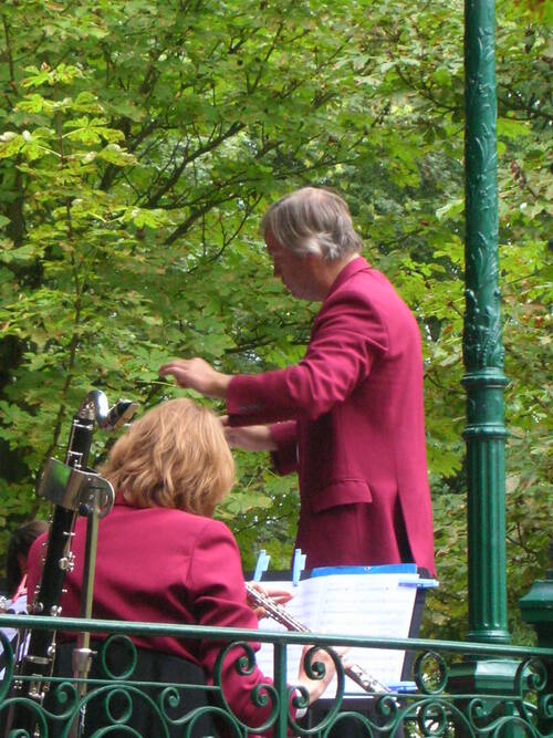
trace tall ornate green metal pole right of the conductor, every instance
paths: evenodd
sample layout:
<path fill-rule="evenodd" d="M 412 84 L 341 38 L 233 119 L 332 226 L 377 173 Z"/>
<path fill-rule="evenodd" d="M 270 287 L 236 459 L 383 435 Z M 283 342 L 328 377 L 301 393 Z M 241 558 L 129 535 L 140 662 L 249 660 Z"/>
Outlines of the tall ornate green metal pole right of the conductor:
<path fill-rule="evenodd" d="M 470 641 L 509 643 L 503 347 L 498 288 L 493 0 L 465 3 L 468 574 Z"/>

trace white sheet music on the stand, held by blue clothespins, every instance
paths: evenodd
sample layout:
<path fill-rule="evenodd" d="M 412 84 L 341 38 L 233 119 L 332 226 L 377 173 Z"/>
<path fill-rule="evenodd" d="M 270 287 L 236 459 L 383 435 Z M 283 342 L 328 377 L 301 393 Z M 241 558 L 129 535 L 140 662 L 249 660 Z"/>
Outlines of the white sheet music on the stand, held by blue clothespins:
<path fill-rule="evenodd" d="M 286 610 L 314 633 L 364 635 L 367 637 L 398 637 L 409 635 L 413 607 L 417 592 L 418 574 L 330 574 L 303 580 L 298 586 L 291 582 L 267 582 L 272 588 L 288 590 L 294 595 Z M 405 583 L 411 586 L 405 586 Z M 260 630 L 285 631 L 283 625 L 270 619 L 260 622 Z M 258 664 L 267 676 L 273 672 L 273 647 L 263 644 Z M 302 648 L 288 648 L 288 678 L 298 678 Z M 387 685 L 400 682 L 404 663 L 403 651 L 380 648 L 352 648 L 347 659 L 365 668 L 372 676 Z M 333 694 L 330 687 L 328 695 Z M 346 694 L 366 694 L 351 679 L 346 679 Z"/>

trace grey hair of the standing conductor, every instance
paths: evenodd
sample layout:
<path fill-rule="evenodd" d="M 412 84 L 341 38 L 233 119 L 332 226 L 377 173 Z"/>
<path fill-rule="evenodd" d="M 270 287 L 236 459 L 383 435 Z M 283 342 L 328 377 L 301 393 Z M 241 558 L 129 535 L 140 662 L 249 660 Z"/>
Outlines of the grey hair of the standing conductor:
<path fill-rule="evenodd" d="M 261 233 L 268 230 L 281 247 L 298 254 L 316 253 L 325 261 L 363 249 L 346 202 L 317 187 L 302 187 L 274 202 L 260 225 Z"/>

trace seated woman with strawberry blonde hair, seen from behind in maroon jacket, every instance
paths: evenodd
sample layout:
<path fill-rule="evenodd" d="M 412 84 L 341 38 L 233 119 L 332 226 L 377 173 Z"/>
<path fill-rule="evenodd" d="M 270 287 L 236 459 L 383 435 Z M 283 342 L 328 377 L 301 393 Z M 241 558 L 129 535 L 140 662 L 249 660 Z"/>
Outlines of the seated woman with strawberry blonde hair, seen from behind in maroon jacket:
<path fill-rule="evenodd" d="M 189 399 L 174 399 L 150 409 L 119 437 L 98 471 L 116 499 L 98 522 L 93 616 L 95 619 L 255 628 L 247 604 L 240 553 L 230 530 L 212 514 L 230 491 L 234 462 L 220 420 Z M 86 521 L 77 520 L 62 615 L 80 611 Z M 39 539 L 29 555 L 29 586 L 40 580 Z M 213 683 L 217 656 L 226 644 L 207 638 L 136 637 L 144 649 L 178 656 L 201 667 Z M 253 646 L 255 647 L 255 646 Z M 301 673 L 310 700 L 333 675 L 332 659 L 323 679 Z M 222 667 L 221 686 L 237 717 L 259 727 L 269 708 L 255 707 L 251 690 L 270 684 L 258 668 L 238 675 L 234 648 Z"/>

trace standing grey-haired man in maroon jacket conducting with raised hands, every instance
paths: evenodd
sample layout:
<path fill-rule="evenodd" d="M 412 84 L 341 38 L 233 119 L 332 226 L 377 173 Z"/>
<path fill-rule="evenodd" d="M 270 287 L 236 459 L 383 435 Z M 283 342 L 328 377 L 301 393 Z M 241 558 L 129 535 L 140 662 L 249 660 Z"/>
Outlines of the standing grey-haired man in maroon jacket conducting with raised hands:
<path fill-rule="evenodd" d="M 257 376 L 201 358 L 160 367 L 180 387 L 227 402 L 227 438 L 298 470 L 296 547 L 306 568 L 415 562 L 435 572 L 422 355 L 418 325 L 388 280 L 359 256 L 344 200 L 305 187 L 261 222 L 274 276 L 321 301 L 305 356 Z M 259 425 L 262 424 L 262 425 Z"/>

